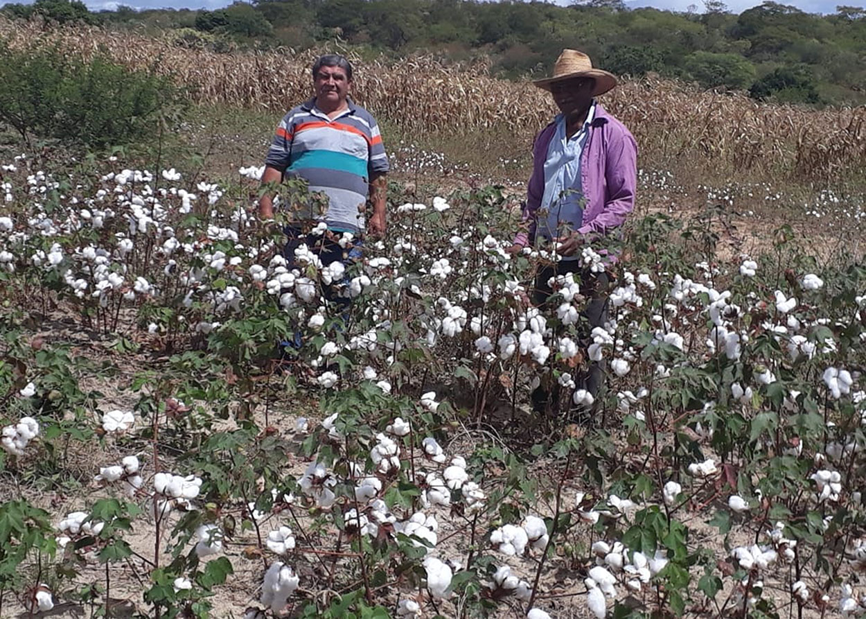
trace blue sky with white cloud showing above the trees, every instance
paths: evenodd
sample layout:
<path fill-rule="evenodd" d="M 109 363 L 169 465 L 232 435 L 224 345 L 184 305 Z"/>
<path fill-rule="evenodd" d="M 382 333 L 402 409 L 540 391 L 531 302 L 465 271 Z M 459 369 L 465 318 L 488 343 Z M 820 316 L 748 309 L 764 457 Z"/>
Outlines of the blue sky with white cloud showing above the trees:
<path fill-rule="evenodd" d="M 29 4 L 31 0 L 18 0 Z M 559 4 L 568 4 L 569 0 L 555 0 Z M 727 8 L 732 13 L 741 13 L 753 6 L 758 6 L 763 0 L 727 0 Z M 847 0 L 779 0 L 780 3 L 791 4 L 800 10 L 810 13 L 834 13 L 838 4 L 853 6 L 866 6 L 863 0 L 860 2 Z M 4 0 L 0 0 L 0 4 Z M 84 0 L 90 10 L 113 10 L 119 3 L 126 4 L 135 9 L 218 9 L 227 6 L 231 0 Z M 703 9 L 701 0 L 630 0 L 627 2 L 631 7 L 652 6 L 656 9 L 666 10 L 688 10 L 689 5 L 696 5 L 698 10 Z"/>

